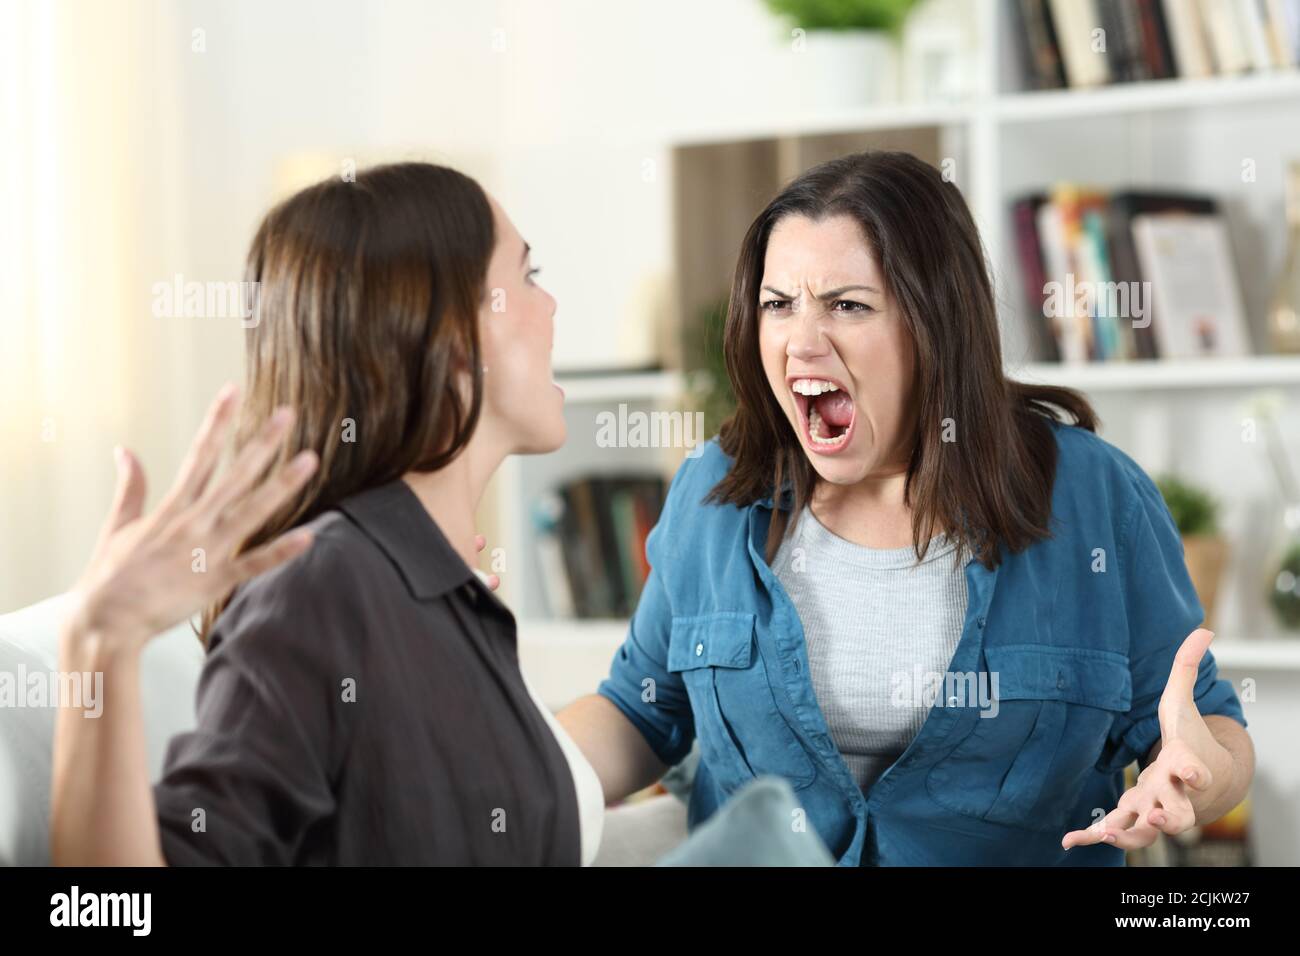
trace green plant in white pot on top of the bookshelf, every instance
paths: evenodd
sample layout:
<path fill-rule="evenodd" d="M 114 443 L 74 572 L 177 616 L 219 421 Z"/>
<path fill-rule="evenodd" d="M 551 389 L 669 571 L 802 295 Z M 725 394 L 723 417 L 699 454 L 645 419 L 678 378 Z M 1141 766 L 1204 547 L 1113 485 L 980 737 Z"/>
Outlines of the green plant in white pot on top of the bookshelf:
<path fill-rule="evenodd" d="M 915 0 L 764 0 L 790 25 L 814 109 L 898 99 L 898 34 Z"/>

